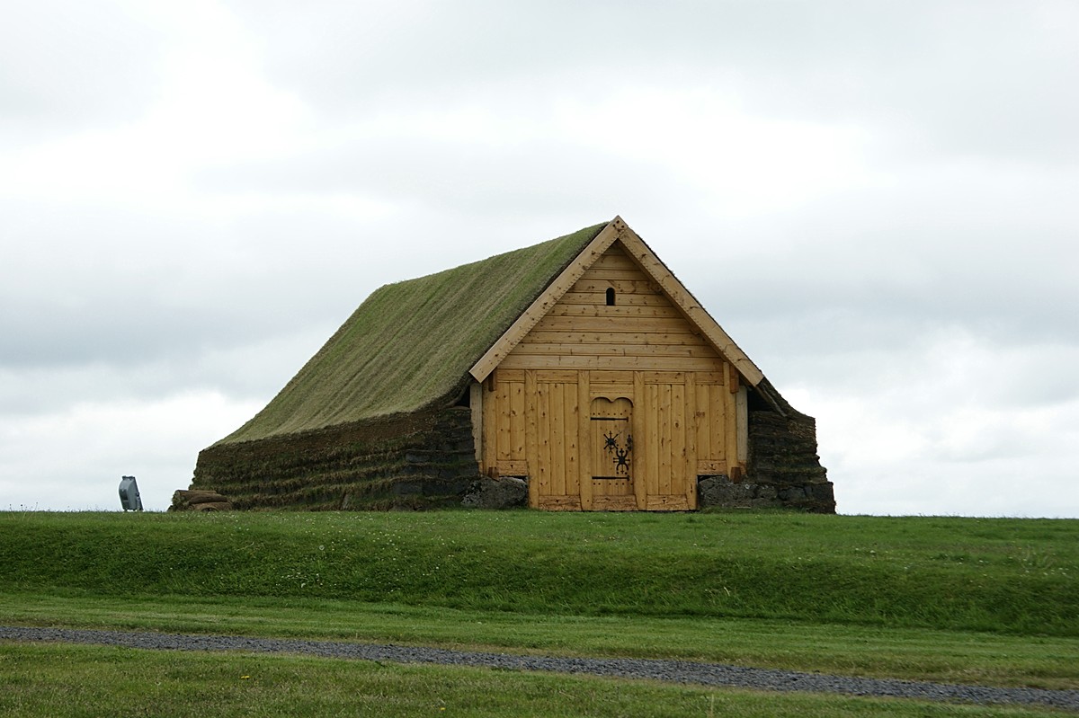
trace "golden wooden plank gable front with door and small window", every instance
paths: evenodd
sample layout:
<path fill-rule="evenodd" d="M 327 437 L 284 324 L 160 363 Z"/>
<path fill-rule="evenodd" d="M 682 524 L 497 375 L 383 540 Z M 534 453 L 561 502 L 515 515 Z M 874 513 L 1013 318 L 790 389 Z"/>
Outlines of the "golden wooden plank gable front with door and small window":
<path fill-rule="evenodd" d="M 620 219 L 472 374 L 481 470 L 573 511 L 696 509 L 698 477 L 746 472 L 763 378 Z"/>

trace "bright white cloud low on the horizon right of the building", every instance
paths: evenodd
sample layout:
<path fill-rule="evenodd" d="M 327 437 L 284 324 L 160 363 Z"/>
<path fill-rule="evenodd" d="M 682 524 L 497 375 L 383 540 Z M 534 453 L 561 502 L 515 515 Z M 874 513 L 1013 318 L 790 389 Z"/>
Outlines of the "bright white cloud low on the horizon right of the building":
<path fill-rule="evenodd" d="M 848 358 L 787 396 L 817 418 L 841 512 L 1075 516 L 1079 379 L 1016 392 L 1077 358 L 1077 347 L 1035 353 L 955 331 L 869 364 Z"/>

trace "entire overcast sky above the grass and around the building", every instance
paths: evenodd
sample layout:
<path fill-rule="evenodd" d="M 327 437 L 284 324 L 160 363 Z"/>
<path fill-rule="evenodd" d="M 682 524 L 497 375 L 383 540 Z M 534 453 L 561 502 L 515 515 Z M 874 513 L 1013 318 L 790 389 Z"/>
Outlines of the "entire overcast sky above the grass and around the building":
<path fill-rule="evenodd" d="M 620 215 L 839 512 L 1079 516 L 1079 3 L 3 15 L 0 510 L 164 510 L 379 286 Z"/>

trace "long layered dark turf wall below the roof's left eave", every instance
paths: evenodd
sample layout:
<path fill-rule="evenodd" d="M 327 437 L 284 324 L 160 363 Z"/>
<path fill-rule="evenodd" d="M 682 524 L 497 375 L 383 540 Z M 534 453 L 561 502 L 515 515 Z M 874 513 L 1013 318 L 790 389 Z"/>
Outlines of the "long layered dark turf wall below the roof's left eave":
<path fill-rule="evenodd" d="M 236 509 L 424 509 L 460 505 L 478 475 L 470 412 L 454 406 L 210 446 L 191 488 Z"/>

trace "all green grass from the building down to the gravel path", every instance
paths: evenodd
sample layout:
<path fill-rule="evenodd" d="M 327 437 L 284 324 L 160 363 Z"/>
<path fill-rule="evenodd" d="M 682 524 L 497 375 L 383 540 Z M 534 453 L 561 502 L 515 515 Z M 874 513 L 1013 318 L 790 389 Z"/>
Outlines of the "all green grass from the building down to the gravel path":
<path fill-rule="evenodd" d="M 3 513 L 0 623 L 683 658 L 1076 689 L 1079 522 L 531 511 Z M 38 650 L 46 665 L 44 647 L 11 646 L 0 665 L 23 665 L 12 651 Z M 314 679 L 299 666 L 317 665 L 259 661 L 284 661 L 279 669 L 292 665 L 304 681 Z M 360 675 L 369 667 L 332 669 Z M 436 680 L 424 672 L 441 671 L 386 669 L 402 672 L 406 682 Z M 446 671 L 453 677 L 437 680 L 468 682 Z M 571 680 L 477 675 L 492 685 Z M 574 691 L 601 694 L 611 684 L 595 682 Z M 694 710 L 669 715 L 706 715 L 701 696 L 736 694 L 641 690 L 697 696 Z M 792 713 L 818 710 L 798 704 L 805 696 L 790 700 Z M 638 707 L 588 715 L 660 715 Z M 820 715 L 846 715 L 838 704 L 832 708 Z M 753 709 L 738 707 L 746 715 Z M 583 710 L 552 704 L 523 713 Z"/>

